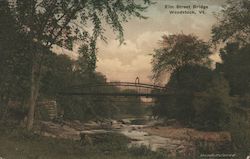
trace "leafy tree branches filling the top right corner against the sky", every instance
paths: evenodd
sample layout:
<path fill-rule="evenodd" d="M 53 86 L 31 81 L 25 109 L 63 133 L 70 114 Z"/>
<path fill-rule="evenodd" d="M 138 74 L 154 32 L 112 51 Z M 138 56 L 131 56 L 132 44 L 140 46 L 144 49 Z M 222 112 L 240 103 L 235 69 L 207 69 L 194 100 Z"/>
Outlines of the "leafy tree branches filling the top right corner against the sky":
<path fill-rule="evenodd" d="M 222 14 L 218 16 L 218 24 L 212 28 L 212 40 L 218 42 L 250 42 L 250 1 L 228 0 Z"/>

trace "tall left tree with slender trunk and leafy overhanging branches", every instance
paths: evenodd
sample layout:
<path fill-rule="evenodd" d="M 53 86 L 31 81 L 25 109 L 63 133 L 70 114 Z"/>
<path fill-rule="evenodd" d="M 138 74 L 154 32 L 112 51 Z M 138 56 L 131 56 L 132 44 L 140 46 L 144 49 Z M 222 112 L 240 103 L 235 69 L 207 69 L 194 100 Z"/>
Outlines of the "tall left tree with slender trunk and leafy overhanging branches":
<path fill-rule="evenodd" d="M 51 49 L 53 45 L 72 49 L 73 42 L 80 40 L 90 46 L 91 55 L 95 57 L 97 38 L 105 40 L 103 21 L 106 21 L 114 32 L 118 32 L 118 38 L 122 42 L 122 22 L 126 22 L 131 16 L 145 18 L 141 12 L 151 4 L 151 1 L 144 0 L 144 3 L 145 6 L 135 3 L 134 0 L 16 1 L 13 5 L 15 19 L 20 25 L 20 30 L 32 41 L 28 48 L 32 53 L 28 129 L 33 127 L 45 50 Z M 88 31 L 88 24 L 93 26 L 92 33 Z"/>

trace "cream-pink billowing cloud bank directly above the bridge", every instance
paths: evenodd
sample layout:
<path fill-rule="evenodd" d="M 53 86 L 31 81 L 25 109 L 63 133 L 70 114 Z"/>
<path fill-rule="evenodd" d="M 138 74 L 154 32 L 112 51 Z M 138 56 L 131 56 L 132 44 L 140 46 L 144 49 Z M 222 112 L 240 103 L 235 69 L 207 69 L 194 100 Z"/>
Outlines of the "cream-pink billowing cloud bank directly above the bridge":
<path fill-rule="evenodd" d="M 162 35 L 162 31 L 146 31 L 135 40 L 120 45 L 112 40 L 100 43 L 97 71 L 104 73 L 111 81 L 134 81 L 138 76 L 142 82 L 151 82 L 151 55 Z"/>

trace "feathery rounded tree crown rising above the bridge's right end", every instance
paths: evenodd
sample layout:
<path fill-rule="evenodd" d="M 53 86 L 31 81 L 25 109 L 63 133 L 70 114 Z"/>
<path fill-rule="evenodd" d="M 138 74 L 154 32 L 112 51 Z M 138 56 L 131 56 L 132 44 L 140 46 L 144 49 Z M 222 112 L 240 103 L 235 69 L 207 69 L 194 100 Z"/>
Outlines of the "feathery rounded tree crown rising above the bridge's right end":
<path fill-rule="evenodd" d="M 163 73 L 174 72 L 184 65 L 210 63 L 210 46 L 194 35 L 168 35 L 163 36 L 160 48 L 153 54 L 154 79 L 159 79 Z"/>

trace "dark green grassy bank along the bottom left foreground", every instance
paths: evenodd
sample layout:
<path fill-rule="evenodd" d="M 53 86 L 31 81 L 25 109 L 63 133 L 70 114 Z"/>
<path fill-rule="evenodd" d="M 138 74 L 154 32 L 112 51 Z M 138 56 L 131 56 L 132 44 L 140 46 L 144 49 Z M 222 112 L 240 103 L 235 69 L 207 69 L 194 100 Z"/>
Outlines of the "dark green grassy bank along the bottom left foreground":
<path fill-rule="evenodd" d="M 21 128 L 0 128 L 0 157 L 5 159 L 165 159 L 163 152 L 146 147 L 127 148 L 125 136 L 97 137 L 93 145 L 42 137 Z"/>

